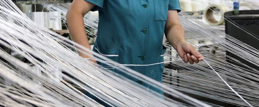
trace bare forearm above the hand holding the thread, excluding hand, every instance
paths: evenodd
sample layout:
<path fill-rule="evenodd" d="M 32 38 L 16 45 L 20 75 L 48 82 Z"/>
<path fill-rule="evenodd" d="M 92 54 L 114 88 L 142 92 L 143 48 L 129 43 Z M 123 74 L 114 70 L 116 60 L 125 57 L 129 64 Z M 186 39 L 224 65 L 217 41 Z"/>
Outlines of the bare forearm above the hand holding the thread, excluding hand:
<path fill-rule="evenodd" d="M 165 35 L 174 49 L 177 49 L 177 45 L 180 43 L 185 42 L 184 30 L 181 24 L 172 24 L 165 28 Z"/>

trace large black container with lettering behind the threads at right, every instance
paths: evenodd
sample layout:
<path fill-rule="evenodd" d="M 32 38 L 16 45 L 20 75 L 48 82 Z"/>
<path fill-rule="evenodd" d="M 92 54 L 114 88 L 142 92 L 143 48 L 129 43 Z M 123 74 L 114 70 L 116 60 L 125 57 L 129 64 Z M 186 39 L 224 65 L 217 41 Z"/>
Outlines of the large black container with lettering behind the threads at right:
<path fill-rule="evenodd" d="M 248 44 L 249 46 L 252 46 L 253 48 L 259 50 L 257 39 L 254 39 L 253 37 L 255 36 L 258 38 L 259 35 L 259 10 L 243 10 L 239 11 L 239 15 L 233 15 L 233 12 L 230 11 L 225 13 L 225 18 L 225 28 L 227 35 L 230 35 Z M 244 30 L 241 30 L 240 28 Z M 246 32 L 248 32 L 251 35 L 248 35 Z M 238 45 L 237 43 L 234 44 Z M 238 61 L 248 65 L 249 67 L 259 70 L 259 67 L 257 65 L 254 65 L 253 63 L 248 62 L 238 57 L 237 55 L 234 55 L 231 52 L 227 51 L 226 54 L 229 56 L 227 57 L 227 60 L 231 64 L 238 65 L 242 68 L 247 68 L 243 65 L 238 64 L 236 61 L 231 60 L 230 57 L 237 59 Z M 247 69 L 252 70 L 251 68 Z"/>

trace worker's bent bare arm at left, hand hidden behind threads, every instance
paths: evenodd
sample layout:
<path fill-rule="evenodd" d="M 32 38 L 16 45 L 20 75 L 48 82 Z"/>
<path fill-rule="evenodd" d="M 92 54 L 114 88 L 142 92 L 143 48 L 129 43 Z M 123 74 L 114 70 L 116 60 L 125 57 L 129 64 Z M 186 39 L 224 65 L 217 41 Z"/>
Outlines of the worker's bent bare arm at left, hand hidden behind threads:
<path fill-rule="evenodd" d="M 67 12 L 67 24 L 72 40 L 88 48 L 89 50 L 91 50 L 91 48 L 87 39 L 83 16 L 85 16 L 85 14 L 88 13 L 94 6 L 94 4 L 84 0 L 74 0 Z M 90 56 L 87 56 L 79 51 L 78 53 L 84 58 L 91 58 L 93 56 L 92 53 L 89 53 Z M 96 63 L 96 61 L 93 62 Z"/>

